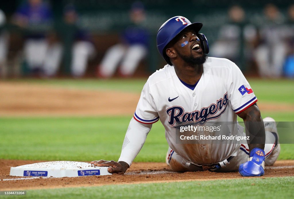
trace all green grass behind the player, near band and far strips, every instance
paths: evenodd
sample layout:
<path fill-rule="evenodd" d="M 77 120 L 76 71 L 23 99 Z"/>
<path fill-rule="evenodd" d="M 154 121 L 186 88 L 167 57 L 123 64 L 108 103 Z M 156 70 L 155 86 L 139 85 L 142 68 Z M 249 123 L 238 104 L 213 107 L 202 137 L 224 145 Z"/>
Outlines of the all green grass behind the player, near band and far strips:
<path fill-rule="evenodd" d="M 140 93 L 146 79 L 25 79 L 7 80 L 63 88 L 120 90 Z M 259 102 L 293 104 L 293 80 L 248 80 Z M 294 112 L 263 111 L 263 117 L 294 121 Z M 0 118 L 0 158 L 38 160 L 117 160 L 130 116 Z M 240 120 L 241 121 L 241 120 Z M 164 129 L 153 125 L 135 161 L 163 162 L 167 151 Z M 279 159 L 294 159 L 294 145 L 283 144 Z"/>

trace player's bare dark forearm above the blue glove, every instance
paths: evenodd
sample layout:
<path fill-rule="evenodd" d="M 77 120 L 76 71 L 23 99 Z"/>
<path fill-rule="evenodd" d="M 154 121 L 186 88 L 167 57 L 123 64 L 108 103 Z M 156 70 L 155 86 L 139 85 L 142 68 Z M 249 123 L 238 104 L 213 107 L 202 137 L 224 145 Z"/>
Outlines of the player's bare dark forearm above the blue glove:
<path fill-rule="evenodd" d="M 255 147 L 264 149 L 265 129 L 258 106 L 254 104 L 238 116 L 244 120 L 246 134 L 250 136 L 249 151 Z"/>

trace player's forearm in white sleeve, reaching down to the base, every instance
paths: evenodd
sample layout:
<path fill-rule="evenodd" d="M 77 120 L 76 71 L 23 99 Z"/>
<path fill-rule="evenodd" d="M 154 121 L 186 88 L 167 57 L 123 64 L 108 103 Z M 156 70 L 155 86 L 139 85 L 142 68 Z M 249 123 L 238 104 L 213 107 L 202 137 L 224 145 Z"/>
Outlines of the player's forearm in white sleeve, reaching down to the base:
<path fill-rule="evenodd" d="M 123 141 L 121 156 L 118 159 L 119 162 L 126 162 L 131 166 L 133 160 L 143 147 L 151 127 L 152 124 L 143 124 L 134 119 L 131 120 Z"/>

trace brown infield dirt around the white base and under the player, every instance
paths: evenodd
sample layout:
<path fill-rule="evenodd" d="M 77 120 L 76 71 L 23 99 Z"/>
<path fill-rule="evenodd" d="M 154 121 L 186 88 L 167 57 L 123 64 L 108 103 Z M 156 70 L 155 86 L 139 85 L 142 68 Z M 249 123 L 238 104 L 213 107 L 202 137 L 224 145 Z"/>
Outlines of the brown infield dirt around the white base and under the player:
<path fill-rule="evenodd" d="M 82 176 L 63 178 L 32 178 L 24 180 L 24 177 L 9 176 L 10 167 L 24 164 L 32 164 L 44 161 L 32 160 L 0 160 L 0 190 L 21 190 L 21 189 L 41 189 L 41 188 L 62 188 L 62 187 L 82 187 L 82 186 L 102 186 L 110 184 L 134 184 L 134 183 L 160 183 L 174 181 L 204 181 L 222 179 L 240 179 L 238 172 L 215 173 L 210 171 L 197 171 L 177 173 L 173 172 L 166 163 L 155 162 L 134 162 L 125 175 L 113 174 L 107 176 Z M 267 177 L 294 176 L 294 160 L 280 160 L 274 165 L 275 168 L 266 167 Z M 248 178 L 248 177 L 246 177 Z M 10 179 L 10 180 L 4 180 Z"/>

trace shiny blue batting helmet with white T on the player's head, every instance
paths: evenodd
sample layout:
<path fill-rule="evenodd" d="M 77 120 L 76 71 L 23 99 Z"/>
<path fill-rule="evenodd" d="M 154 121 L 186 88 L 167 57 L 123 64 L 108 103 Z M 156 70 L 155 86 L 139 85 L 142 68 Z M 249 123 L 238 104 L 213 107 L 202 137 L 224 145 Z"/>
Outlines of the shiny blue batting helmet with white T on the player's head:
<path fill-rule="evenodd" d="M 173 18 L 170 18 L 165 23 L 161 25 L 157 32 L 156 36 L 156 43 L 157 43 L 157 49 L 163 59 L 169 64 L 171 64 L 171 61 L 169 60 L 169 57 L 166 55 L 165 49 L 166 45 L 173 40 L 182 30 L 184 30 L 187 27 L 193 28 L 196 33 L 199 32 L 199 30 L 202 28 L 202 23 L 196 22 L 191 23 L 187 18 L 182 16 L 175 16 Z M 198 36 L 198 34 L 197 34 Z M 209 48 L 208 48 L 208 42 L 206 40 L 206 37 L 201 34 L 202 38 L 199 38 L 201 41 L 202 49 L 205 54 L 208 54 Z M 203 39 L 203 40 L 201 40 Z M 203 45 L 204 43 L 204 45 Z"/>

